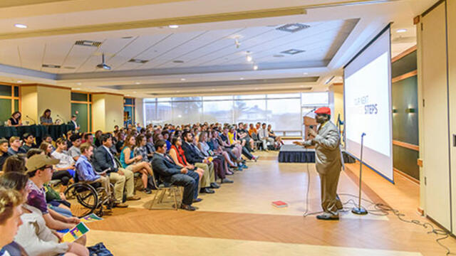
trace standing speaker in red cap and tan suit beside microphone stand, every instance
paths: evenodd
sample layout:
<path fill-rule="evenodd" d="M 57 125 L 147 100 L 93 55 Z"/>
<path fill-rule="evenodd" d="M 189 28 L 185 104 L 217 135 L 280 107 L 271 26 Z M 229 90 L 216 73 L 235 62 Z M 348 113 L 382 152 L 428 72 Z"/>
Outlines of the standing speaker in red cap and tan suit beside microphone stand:
<path fill-rule="evenodd" d="M 317 215 L 319 220 L 338 220 L 338 210 L 343 208 L 337 195 L 337 184 L 341 174 L 341 137 L 331 119 L 331 109 L 320 107 L 315 111 L 318 133 L 309 129 L 309 140 L 294 142 L 301 146 L 315 146 L 315 166 L 321 182 L 321 208 L 323 213 Z"/>

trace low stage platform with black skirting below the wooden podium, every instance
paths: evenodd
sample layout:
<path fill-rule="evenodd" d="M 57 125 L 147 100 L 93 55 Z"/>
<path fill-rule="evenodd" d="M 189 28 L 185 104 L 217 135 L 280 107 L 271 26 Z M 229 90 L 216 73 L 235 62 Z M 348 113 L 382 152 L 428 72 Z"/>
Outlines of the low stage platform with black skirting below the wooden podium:
<path fill-rule="evenodd" d="M 315 163 L 315 149 L 295 144 L 281 146 L 279 163 Z"/>

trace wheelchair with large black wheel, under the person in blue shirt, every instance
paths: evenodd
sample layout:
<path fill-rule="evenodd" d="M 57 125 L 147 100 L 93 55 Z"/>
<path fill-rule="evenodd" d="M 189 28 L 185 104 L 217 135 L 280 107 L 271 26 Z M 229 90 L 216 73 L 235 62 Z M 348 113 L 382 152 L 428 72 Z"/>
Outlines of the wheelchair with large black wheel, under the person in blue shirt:
<path fill-rule="evenodd" d="M 103 188 L 99 182 L 90 183 L 86 181 L 79 181 L 77 172 L 74 180 L 75 183 L 68 186 L 64 192 L 66 200 L 71 203 L 77 202 L 81 206 L 74 210 L 75 213 L 73 213 L 73 215 L 81 218 L 91 213 L 95 213 L 101 217 L 104 214 L 103 206 L 105 206 L 108 210 L 113 208 L 113 184 L 110 183 L 111 195 L 108 196 L 105 188 Z"/>

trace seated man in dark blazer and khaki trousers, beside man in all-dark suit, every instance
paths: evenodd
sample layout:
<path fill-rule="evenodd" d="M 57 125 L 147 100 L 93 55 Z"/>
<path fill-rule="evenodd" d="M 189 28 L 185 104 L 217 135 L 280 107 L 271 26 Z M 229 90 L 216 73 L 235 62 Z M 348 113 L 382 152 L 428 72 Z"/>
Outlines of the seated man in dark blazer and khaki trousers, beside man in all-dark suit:
<path fill-rule="evenodd" d="M 197 147 L 193 144 L 193 135 L 190 132 L 185 131 L 182 133 L 182 139 L 184 140 L 182 142 L 182 149 L 188 163 L 204 170 L 201 178 L 201 190 L 199 192 L 215 193 L 211 188 L 219 188 L 220 186 L 215 183 L 214 164 L 199 154 Z"/>

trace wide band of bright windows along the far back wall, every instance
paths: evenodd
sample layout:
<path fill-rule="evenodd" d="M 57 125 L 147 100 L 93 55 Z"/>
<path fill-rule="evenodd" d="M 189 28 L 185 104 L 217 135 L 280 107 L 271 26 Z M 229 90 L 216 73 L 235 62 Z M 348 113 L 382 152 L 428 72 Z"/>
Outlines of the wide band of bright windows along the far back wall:
<path fill-rule="evenodd" d="M 300 134 L 301 107 L 327 106 L 328 92 L 150 98 L 144 105 L 146 124 L 266 122 L 279 133 Z"/>

